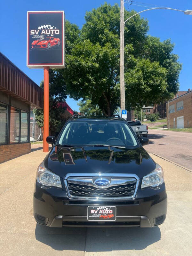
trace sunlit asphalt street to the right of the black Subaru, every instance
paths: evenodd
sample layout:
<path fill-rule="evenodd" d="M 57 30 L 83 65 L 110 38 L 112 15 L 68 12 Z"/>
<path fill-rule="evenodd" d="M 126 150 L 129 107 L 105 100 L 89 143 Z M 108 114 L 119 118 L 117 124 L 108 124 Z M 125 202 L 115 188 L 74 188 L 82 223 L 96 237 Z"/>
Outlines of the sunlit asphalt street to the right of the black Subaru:
<path fill-rule="evenodd" d="M 192 170 L 192 133 L 149 129 L 148 153 L 165 157 Z"/>

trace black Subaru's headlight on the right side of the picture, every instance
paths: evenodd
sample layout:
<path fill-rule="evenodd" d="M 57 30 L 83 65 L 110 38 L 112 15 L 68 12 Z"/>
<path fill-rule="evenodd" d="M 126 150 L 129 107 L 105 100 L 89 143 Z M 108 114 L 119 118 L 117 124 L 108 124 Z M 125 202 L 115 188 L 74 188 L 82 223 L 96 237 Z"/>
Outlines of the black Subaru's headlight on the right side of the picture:
<path fill-rule="evenodd" d="M 156 164 L 153 172 L 143 177 L 141 188 L 157 187 L 164 182 L 164 172 L 160 165 Z"/>

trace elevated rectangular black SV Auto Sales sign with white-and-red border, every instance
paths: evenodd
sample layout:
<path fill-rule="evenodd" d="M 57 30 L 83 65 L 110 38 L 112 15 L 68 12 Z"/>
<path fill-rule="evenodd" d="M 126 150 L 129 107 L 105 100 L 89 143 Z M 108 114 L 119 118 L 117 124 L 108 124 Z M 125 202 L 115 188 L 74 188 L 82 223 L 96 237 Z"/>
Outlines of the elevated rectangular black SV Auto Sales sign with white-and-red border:
<path fill-rule="evenodd" d="M 27 66 L 65 68 L 64 11 L 27 12 Z"/>

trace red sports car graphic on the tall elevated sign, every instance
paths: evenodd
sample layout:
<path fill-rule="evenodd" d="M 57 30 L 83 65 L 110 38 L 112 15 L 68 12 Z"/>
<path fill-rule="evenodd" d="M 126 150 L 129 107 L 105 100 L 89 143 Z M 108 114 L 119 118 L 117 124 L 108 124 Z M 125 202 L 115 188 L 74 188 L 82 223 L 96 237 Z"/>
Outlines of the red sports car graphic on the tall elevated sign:
<path fill-rule="evenodd" d="M 60 39 L 59 38 L 54 38 L 52 36 L 46 36 L 43 37 L 39 40 L 35 40 L 31 43 L 31 48 L 44 48 L 48 49 L 51 48 L 52 46 L 55 45 L 60 45 Z"/>

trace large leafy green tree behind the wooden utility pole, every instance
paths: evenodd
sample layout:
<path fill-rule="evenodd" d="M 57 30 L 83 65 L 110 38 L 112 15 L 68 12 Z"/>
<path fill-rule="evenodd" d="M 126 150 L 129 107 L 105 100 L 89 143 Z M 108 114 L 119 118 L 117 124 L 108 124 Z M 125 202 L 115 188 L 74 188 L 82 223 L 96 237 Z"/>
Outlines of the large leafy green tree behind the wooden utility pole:
<path fill-rule="evenodd" d="M 135 12 L 125 10 L 125 19 Z M 72 32 L 71 32 L 72 31 Z M 86 12 L 79 30 L 66 23 L 66 68 L 60 70 L 70 97 L 91 100 L 105 115 L 120 106 L 120 8 L 103 4 Z M 170 40 L 148 36 L 148 21 L 139 15 L 125 23 L 126 108 L 142 108 L 172 98 L 181 69 Z"/>

